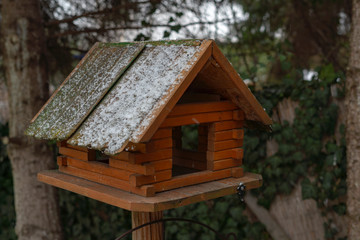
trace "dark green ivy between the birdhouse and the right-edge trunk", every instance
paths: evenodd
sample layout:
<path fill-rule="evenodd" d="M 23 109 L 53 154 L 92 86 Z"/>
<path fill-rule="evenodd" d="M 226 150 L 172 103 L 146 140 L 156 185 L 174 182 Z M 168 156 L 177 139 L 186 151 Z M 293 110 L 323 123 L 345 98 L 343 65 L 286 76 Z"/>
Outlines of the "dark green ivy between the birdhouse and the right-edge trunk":
<path fill-rule="evenodd" d="M 245 166 L 262 174 L 264 186 L 255 192 L 259 203 L 267 208 L 277 194 L 291 193 L 300 181 L 303 198 L 314 199 L 325 216 L 331 211 L 344 215 L 346 146 L 344 126 L 339 127 L 342 138 L 336 142 L 338 107 L 334 101 L 343 96 L 344 77 L 331 65 L 318 68 L 317 72 L 311 81 L 302 80 L 299 72 L 290 73 L 285 84 L 266 87 L 258 93 L 257 98 L 269 110 L 285 98 L 299 106 L 291 125 L 287 121 L 274 123 L 271 134 L 246 132 Z M 334 96 L 332 89 L 337 89 Z M 278 143 L 277 152 L 270 157 L 266 157 L 268 139 Z M 330 222 L 331 219 L 324 225 L 327 238 L 336 233 L 329 229 Z"/>

